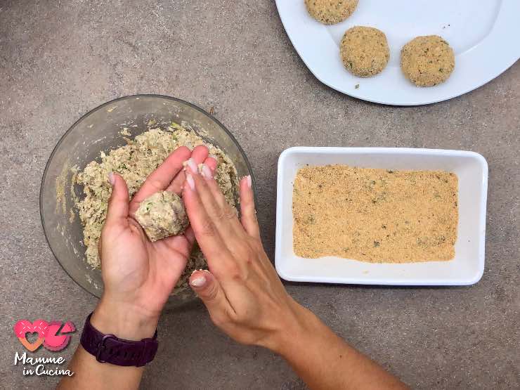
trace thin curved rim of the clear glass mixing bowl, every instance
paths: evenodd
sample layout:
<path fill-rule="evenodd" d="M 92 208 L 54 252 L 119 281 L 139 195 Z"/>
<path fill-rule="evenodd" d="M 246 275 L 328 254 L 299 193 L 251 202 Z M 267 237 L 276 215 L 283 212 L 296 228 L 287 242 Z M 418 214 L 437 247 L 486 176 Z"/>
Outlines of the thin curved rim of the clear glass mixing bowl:
<path fill-rule="evenodd" d="M 235 145 L 237 146 L 238 148 L 238 151 L 240 152 L 240 154 L 244 157 L 244 160 L 245 160 L 245 164 L 246 164 L 246 167 L 247 169 L 249 170 L 249 175 L 251 176 L 251 181 L 252 181 L 252 189 L 253 189 L 253 198 L 254 198 L 254 204 L 256 205 L 256 207 L 258 207 L 258 197 L 256 195 L 256 178 L 254 177 L 254 173 L 253 173 L 253 169 L 252 169 L 252 166 L 251 164 L 249 163 L 249 160 L 247 158 L 247 155 L 245 154 L 244 150 L 242 149 L 242 146 L 240 146 L 240 143 L 238 143 L 237 139 L 235 138 L 235 136 L 233 136 L 233 134 L 228 130 L 228 128 L 226 126 L 224 126 L 222 124 L 222 122 L 219 121 L 219 119 L 216 119 L 216 117 L 214 117 L 212 114 L 210 114 L 209 112 L 207 112 L 206 110 L 203 110 L 202 108 L 200 108 L 199 106 L 193 104 L 193 103 L 190 103 L 186 100 L 183 100 L 183 99 L 180 99 L 180 98 L 174 98 L 173 96 L 167 96 L 167 95 L 160 95 L 160 94 L 157 94 L 157 93 L 138 93 L 136 95 L 127 95 L 127 96 L 122 96 L 122 97 L 119 97 L 119 98 L 115 98 L 115 99 L 112 99 L 112 100 L 108 100 L 108 102 L 105 102 L 103 104 L 100 104 L 100 105 L 97 105 L 95 108 L 92 108 L 91 110 L 87 111 L 84 115 L 82 115 L 81 117 L 79 117 L 79 119 L 77 119 L 73 124 L 72 126 L 70 126 L 67 131 L 65 131 L 65 133 L 63 133 L 62 136 L 60 136 L 60 139 L 58 140 L 58 143 L 56 143 L 56 145 L 54 146 L 52 152 L 51 152 L 51 155 L 49 155 L 48 159 L 47 159 L 47 162 L 45 164 L 45 169 L 44 169 L 44 173 L 41 175 L 41 182 L 40 182 L 40 190 L 39 190 L 39 196 L 38 196 L 38 209 L 39 209 L 39 214 L 40 214 L 40 221 L 41 221 L 41 228 L 42 230 L 44 230 L 44 235 L 45 235 L 45 240 L 47 242 L 47 246 L 49 249 L 51 249 L 51 252 L 54 256 L 54 259 L 56 259 L 56 261 L 58 261 L 58 264 L 60 264 L 60 267 L 63 269 L 63 271 L 65 271 L 65 273 L 69 276 L 70 279 L 72 279 L 74 281 L 74 283 L 76 283 L 79 287 L 82 288 L 82 290 L 88 292 L 89 294 L 93 295 L 93 297 L 96 297 L 96 298 L 100 298 L 98 297 L 96 294 L 94 294 L 93 292 L 89 291 L 86 287 L 84 287 L 83 285 L 81 285 L 77 280 L 75 280 L 74 278 L 72 278 L 72 275 L 70 275 L 70 273 L 67 271 L 67 269 L 63 266 L 63 264 L 61 264 L 61 261 L 60 259 L 58 259 L 58 256 L 56 256 L 56 252 L 54 252 L 54 249 L 51 245 L 51 242 L 48 240 L 48 235 L 47 235 L 47 231 L 45 229 L 45 218 L 44 218 L 44 213 L 42 212 L 42 204 L 43 204 L 43 190 L 44 190 L 44 183 L 45 183 L 45 180 L 46 180 L 46 177 L 47 177 L 47 174 L 48 174 L 48 167 L 49 167 L 49 164 L 51 163 L 51 161 L 53 160 L 53 157 L 54 155 L 56 154 L 58 148 L 60 147 L 60 145 L 63 143 L 63 141 L 65 140 L 65 138 L 70 134 L 70 132 L 77 126 L 77 124 L 79 124 L 79 122 L 82 122 L 83 119 L 85 119 L 86 117 L 88 117 L 92 112 L 94 111 L 97 111 L 97 110 L 100 110 L 100 108 L 103 108 L 105 107 L 106 105 L 110 105 L 110 104 L 113 104 L 115 102 L 118 102 L 118 101 L 121 101 L 121 100 L 129 100 L 129 99 L 136 99 L 136 98 L 162 98 L 162 99 L 167 99 L 167 100 L 174 100 L 178 103 L 183 103 L 185 105 L 188 105 L 190 108 L 193 108 L 195 110 L 197 110 L 198 112 L 202 113 L 202 115 L 205 115 L 206 117 L 208 117 L 209 119 L 211 119 L 213 122 L 215 122 L 216 124 L 218 124 L 219 126 L 221 126 L 221 128 L 223 129 L 223 131 L 229 136 L 229 138 L 231 139 L 231 141 L 233 141 L 233 143 L 235 143 Z"/>

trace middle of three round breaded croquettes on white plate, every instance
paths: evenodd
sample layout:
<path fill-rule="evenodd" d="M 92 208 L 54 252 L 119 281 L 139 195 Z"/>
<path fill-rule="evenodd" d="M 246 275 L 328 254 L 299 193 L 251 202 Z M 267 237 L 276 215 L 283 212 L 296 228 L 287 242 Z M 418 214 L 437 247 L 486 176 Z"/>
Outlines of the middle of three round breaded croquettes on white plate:
<path fill-rule="evenodd" d="M 339 45 L 339 53 L 346 69 L 359 77 L 378 74 L 386 67 L 390 58 L 384 32 L 364 26 L 346 30 Z"/>

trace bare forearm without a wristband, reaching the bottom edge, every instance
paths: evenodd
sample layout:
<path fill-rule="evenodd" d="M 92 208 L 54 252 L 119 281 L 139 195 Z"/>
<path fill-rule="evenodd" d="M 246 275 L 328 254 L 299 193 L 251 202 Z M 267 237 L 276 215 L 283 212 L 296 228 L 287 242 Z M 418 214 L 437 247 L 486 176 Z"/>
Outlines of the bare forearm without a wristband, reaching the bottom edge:
<path fill-rule="evenodd" d="M 275 349 L 313 390 L 407 389 L 396 377 L 349 346 L 311 311 L 295 310 L 291 332 Z"/>

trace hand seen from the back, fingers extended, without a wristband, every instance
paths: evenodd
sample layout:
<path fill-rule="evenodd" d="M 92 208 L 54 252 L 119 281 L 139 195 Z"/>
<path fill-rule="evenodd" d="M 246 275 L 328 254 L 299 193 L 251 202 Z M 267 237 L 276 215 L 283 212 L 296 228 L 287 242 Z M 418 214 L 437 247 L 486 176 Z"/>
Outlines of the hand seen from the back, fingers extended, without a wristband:
<path fill-rule="evenodd" d="M 242 344 L 273 351 L 297 327 L 301 306 L 285 291 L 261 243 L 251 178 L 240 181 L 241 221 L 223 197 L 211 170 L 189 169 L 183 199 L 209 271 L 190 286 L 216 326 Z"/>

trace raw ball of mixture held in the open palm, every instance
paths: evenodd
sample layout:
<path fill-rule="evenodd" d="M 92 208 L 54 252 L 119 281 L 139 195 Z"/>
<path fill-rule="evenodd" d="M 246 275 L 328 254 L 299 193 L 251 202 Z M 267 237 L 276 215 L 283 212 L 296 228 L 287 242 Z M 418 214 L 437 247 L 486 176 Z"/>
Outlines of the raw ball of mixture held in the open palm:
<path fill-rule="evenodd" d="M 143 200 L 136 220 L 152 242 L 181 234 L 190 224 L 182 198 L 170 191 L 160 191 Z"/>

